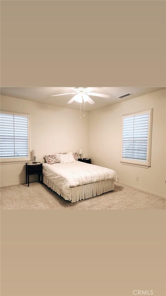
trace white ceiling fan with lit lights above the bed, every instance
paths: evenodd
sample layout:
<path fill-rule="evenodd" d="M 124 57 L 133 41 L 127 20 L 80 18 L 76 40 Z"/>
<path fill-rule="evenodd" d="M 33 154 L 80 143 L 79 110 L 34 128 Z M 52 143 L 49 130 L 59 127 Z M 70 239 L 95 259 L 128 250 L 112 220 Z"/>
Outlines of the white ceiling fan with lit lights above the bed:
<path fill-rule="evenodd" d="M 74 101 L 78 103 L 88 102 L 89 104 L 95 104 L 95 102 L 89 96 L 99 96 L 99 97 L 108 98 L 108 99 L 110 98 L 110 95 L 108 94 L 99 94 L 99 93 L 92 92 L 95 89 L 97 89 L 96 87 L 77 87 L 77 88 L 71 87 L 71 89 L 73 89 L 75 92 L 67 93 L 67 94 L 75 94 L 75 96 L 73 96 L 73 98 L 70 99 L 70 101 L 67 102 L 67 104 L 71 104 Z M 64 95 L 66 94 L 54 94 L 52 96 L 64 96 Z"/>

